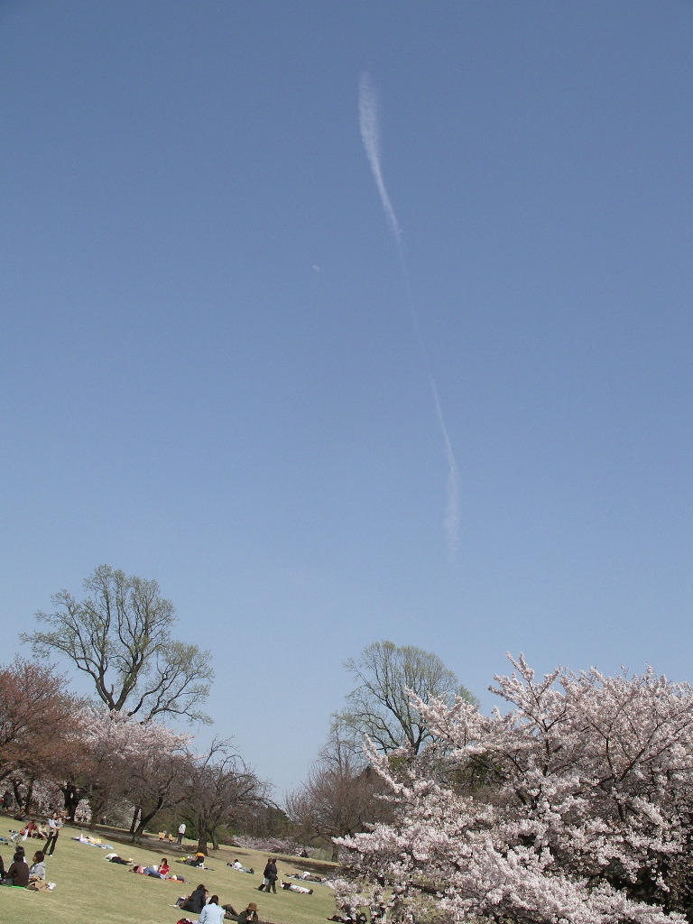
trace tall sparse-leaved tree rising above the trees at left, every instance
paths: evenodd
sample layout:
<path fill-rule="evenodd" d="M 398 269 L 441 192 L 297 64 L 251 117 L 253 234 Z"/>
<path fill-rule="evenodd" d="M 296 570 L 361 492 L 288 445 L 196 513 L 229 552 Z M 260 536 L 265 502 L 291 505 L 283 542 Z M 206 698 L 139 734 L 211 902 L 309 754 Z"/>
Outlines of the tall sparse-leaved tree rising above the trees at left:
<path fill-rule="evenodd" d="M 49 631 L 21 640 L 39 657 L 65 655 L 91 677 L 110 710 L 144 722 L 156 715 L 209 722 L 199 708 L 213 679 L 209 652 L 171 638 L 174 605 L 156 581 L 100 565 L 84 589 L 88 596 L 81 601 L 67 590 L 56 593 L 55 612 L 36 614 Z"/>

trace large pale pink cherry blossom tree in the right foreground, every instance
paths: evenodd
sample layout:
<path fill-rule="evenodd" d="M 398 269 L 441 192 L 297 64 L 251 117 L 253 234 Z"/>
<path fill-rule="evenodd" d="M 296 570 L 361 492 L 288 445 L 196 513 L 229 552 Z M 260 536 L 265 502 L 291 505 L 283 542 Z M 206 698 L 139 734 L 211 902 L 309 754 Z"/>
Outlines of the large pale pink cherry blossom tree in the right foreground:
<path fill-rule="evenodd" d="M 340 839 L 338 900 L 378 906 L 386 886 L 395 922 L 685 920 L 693 687 L 511 662 L 492 687 L 507 711 L 412 696 L 432 745 L 396 772 L 371 748 L 395 821 Z"/>

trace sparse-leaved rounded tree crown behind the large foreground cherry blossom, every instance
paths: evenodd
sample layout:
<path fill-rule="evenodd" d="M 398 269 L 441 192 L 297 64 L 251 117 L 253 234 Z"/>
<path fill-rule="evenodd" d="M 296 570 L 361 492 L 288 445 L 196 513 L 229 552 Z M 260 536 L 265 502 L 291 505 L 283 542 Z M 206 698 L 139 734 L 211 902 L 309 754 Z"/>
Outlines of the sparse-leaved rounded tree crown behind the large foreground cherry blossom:
<path fill-rule="evenodd" d="M 347 694 L 346 708 L 334 715 L 335 727 L 345 737 L 368 736 L 382 751 L 407 747 L 418 754 L 432 739 L 428 723 L 407 691 L 424 702 L 440 697 L 476 702 L 437 654 L 412 645 L 375 641 L 345 667 L 359 686 Z"/>

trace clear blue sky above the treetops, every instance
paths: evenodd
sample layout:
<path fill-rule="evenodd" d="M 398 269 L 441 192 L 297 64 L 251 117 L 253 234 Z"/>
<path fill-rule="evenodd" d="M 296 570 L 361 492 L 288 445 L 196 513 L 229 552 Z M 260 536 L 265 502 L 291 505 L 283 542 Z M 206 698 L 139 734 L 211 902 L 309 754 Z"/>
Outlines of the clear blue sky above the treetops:
<path fill-rule="evenodd" d="M 506 650 L 693 680 L 692 49 L 684 2 L 5 0 L 6 661 L 155 578 L 277 797 L 374 640 L 484 709 Z"/>

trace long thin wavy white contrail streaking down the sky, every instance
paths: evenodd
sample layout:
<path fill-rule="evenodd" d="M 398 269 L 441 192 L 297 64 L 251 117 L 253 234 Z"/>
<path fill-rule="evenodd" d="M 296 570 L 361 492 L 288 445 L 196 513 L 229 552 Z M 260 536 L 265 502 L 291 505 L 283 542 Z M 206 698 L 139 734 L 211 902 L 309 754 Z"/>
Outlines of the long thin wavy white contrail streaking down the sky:
<path fill-rule="evenodd" d="M 371 164 L 371 172 L 373 174 L 373 178 L 375 179 L 375 185 L 378 188 L 380 200 L 383 203 L 383 212 L 385 213 L 385 218 L 387 219 L 388 224 L 392 229 L 393 235 L 395 236 L 397 253 L 399 255 L 399 261 L 402 264 L 402 274 L 404 275 L 405 285 L 407 287 L 409 313 L 414 324 L 414 330 L 417 334 L 417 339 L 419 340 L 419 346 L 423 356 L 423 362 L 426 367 L 426 372 L 428 373 L 429 386 L 431 388 L 433 406 L 435 408 L 435 416 L 438 419 L 438 425 L 440 426 L 441 433 L 443 434 L 445 457 L 447 459 L 448 468 L 447 500 L 445 503 L 444 523 L 445 534 L 447 536 L 447 554 L 449 560 L 452 562 L 456 558 L 457 549 L 459 546 L 459 469 L 457 468 L 455 453 L 453 452 L 453 446 L 450 442 L 450 437 L 448 436 L 447 427 L 445 426 L 443 409 L 441 407 L 438 389 L 432 376 L 431 363 L 429 362 L 428 352 L 426 350 L 426 345 L 420 330 L 419 315 L 414 304 L 411 286 L 409 285 L 409 274 L 407 269 L 407 261 L 405 259 L 402 228 L 399 226 L 399 222 L 397 221 L 395 209 L 393 208 L 390 197 L 387 194 L 387 189 L 385 188 L 385 182 L 383 180 L 383 169 L 380 163 L 380 131 L 378 124 L 377 98 L 371 84 L 371 75 L 367 71 L 363 71 L 359 81 L 359 128 L 361 129 L 361 140 L 363 141 L 363 147 L 366 149 L 366 156 L 368 157 L 369 164 Z"/>

